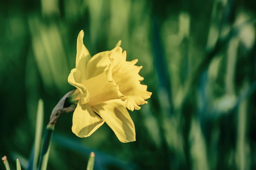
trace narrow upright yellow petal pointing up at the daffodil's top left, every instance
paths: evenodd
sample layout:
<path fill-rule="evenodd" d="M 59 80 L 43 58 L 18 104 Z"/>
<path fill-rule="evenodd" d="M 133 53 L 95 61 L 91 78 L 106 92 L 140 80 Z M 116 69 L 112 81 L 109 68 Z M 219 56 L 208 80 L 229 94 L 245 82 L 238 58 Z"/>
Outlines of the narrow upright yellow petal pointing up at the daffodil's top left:
<path fill-rule="evenodd" d="M 76 43 L 76 68 L 78 68 L 83 74 L 81 75 L 81 81 L 86 80 L 86 65 L 91 58 L 88 49 L 83 44 L 83 30 L 79 32 Z"/>

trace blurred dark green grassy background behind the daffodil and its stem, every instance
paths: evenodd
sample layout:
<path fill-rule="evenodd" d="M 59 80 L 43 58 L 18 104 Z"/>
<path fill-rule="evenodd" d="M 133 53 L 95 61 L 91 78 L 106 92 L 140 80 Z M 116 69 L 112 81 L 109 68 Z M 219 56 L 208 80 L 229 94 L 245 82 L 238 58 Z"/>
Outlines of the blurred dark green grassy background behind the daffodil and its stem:
<path fill-rule="evenodd" d="M 254 0 L 9 0 L 0 2 L 0 157 L 26 169 L 38 100 L 43 134 L 52 109 L 74 89 L 76 38 L 91 55 L 119 39 L 139 59 L 153 95 L 130 112 L 137 141 L 123 144 L 104 124 L 88 138 L 58 119 L 49 170 L 256 169 Z M 4 165 L 0 164 L 4 170 Z"/>

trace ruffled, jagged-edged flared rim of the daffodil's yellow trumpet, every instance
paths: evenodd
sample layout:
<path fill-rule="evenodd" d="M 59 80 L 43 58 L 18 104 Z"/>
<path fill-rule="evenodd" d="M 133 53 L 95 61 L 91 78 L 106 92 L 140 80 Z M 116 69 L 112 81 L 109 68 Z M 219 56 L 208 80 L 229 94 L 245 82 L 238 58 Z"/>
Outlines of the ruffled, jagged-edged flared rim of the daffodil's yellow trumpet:
<path fill-rule="evenodd" d="M 117 85 L 119 91 L 124 95 L 121 99 L 127 100 L 127 108 L 131 111 L 139 110 L 139 105 L 147 103 L 146 99 L 150 98 L 151 92 L 147 91 L 147 86 L 140 82 L 144 79 L 139 75 L 142 66 L 135 65 L 138 60 L 126 61 L 126 51 L 122 52 L 122 48 L 111 50 L 109 54 L 111 64 L 107 70 Z"/>

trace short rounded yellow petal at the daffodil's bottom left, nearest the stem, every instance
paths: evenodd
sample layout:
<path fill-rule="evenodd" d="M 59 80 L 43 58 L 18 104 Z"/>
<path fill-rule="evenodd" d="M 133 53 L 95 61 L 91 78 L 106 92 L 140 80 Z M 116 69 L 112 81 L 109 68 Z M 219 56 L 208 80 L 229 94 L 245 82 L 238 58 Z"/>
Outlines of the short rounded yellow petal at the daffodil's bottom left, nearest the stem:
<path fill-rule="evenodd" d="M 78 102 L 73 113 L 72 132 L 78 137 L 88 137 L 94 133 L 104 121 L 94 113 L 88 104 Z"/>

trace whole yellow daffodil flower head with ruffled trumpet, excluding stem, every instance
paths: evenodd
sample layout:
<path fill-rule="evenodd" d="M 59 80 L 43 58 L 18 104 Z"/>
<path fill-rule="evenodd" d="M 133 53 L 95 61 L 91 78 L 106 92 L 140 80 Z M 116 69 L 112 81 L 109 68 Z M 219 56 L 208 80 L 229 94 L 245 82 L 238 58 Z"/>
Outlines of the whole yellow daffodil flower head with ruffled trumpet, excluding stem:
<path fill-rule="evenodd" d="M 139 110 L 152 94 L 140 83 L 142 66 L 135 65 L 137 59 L 126 61 L 121 41 L 112 50 L 91 57 L 83 36 L 82 30 L 77 37 L 76 68 L 68 76 L 70 85 L 77 88 L 73 96 L 78 100 L 72 131 L 88 137 L 106 122 L 121 142 L 135 141 L 135 126 L 126 108 Z"/>

